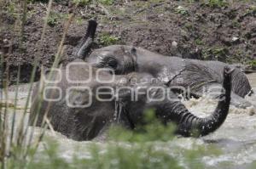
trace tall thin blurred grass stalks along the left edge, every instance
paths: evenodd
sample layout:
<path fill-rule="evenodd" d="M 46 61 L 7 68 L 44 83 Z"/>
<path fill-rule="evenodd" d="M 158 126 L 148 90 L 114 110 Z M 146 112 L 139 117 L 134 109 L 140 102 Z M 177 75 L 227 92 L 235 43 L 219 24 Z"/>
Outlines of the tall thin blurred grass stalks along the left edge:
<path fill-rule="evenodd" d="M 49 0 L 49 5 L 47 8 L 47 14 L 46 14 L 46 19 L 49 19 L 49 13 L 51 9 L 51 4 L 52 0 Z M 23 8 L 26 8 L 26 5 L 23 5 Z M 23 15 L 26 15 L 24 13 L 26 11 L 23 9 Z M 25 18 L 25 19 L 24 19 Z M 63 37 L 61 39 L 61 45 L 58 49 L 58 52 L 55 56 L 55 62 L 59 60 L 59 56 L 61 55 L 61 51 L 63 48 L 63 42 L 65 40 L 65 37 L 67 35 L 67 27 L 70 25 L 70 20 L 73 18 L 73 14 L 69 17 L 69 20 L 67 20 L 67 26 L 64 29 Z M 22 17 L 22 22 L 26 21 L 26 16 Z M 44 23 L 44 29 L 42 32 L 42 36 L 40 41 L 38 42 L 38 46 L 40 47 L 42 45 L 42 42 L 44 41 L 44 36 L 45 36 L 45 28 L 47 25 L 47 21 Z M 21 35 L 20 35 L 21 36 Z M 54 63 L 53 66 L 56 64 Z M 15 124 L 15 118 L 16 118 L 16 106 L 17 102 L 15 101 L 15 109 L 12 115 L 11 119 L 11 127 L 9 127 L 9 106 L 8 106 L 8 77 L 6 77 L 6 80 L 3 80 L 3 72 L 7 72 L 8 75 L 8 67 L 3 66 L 3 56 L 1 55 L 1 76 L 2 76 L 2 89 L 1 89 L 1 97 L 3 95 L 5 96 L 6 103 L 4 105 L 4 109 L 2 104 L 0 104 L 0 167 L 1 168 L 26 168 L 27 161 L 32 160 L 34 153 L 38 149 L 38 144 L 42 140 L 45 132 L 45 128 L 47 125 L 44 125 L 42 128 L 41 133 L 38 136 L 38 139 L 32 144 L 32 135 L 33 132 L 28 132 L 28 124 L 25 124 L 25 116 L 26 112 L 28 109 L 28 104 L 29 104 L 29 98 L 32 93 L 32 82 L 35 76 L 35 71 L 38 66 L 38 57 L 36 57 L 35 62 L 34 62 L 34 68 L 32 70 L 32 76 L 31 76 L 31 84 L 29 87 L 29 92 L 28 92 L 28 97 L 26 99 L 26 105 L 25 109 L 20 117 L 20 122 L 19 124 Z M 15 94 L 15 100 L 17 100 L 17 95 L 18 95 L 18 87 L 19 87 L 19 78 L 20 78 L 20 68 L 18 70 L 18 77 L 17 77 L 17 87 L 16 87 L 16 94 Z M 1 99 L 2 100 L 2 99 Z M 35 122 L 33 123 L 35 124 Z M 10 134 L 9 134 L 9 129 L 10 129 Z M 33 130 L 32 130 L 33 131 Z M 10 137 L 9 137 L 10 135 Z M 28 138 L 26 136 L 29 136 Z M 18 166 L 18 167 L 17 167 Z"/>

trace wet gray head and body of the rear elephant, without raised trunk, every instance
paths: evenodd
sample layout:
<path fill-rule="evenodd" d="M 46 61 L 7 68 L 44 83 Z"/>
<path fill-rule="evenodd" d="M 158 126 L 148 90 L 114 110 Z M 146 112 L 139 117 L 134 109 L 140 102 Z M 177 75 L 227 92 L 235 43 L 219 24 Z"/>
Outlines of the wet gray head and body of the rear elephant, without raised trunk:
<path fill-rule="evenodd" d="M 228 66 L 219 61 L 166 57 L 143 48 L 125 45 L 96 49 L 85 61 L 96 67 L 113 69 L 116 74 L 147 72 L 167 87 L 173 87 L 175 92 L 180 92 L 179 87 L 184 87 L 186 93 L 190 90 L 190 96 L 194 97 L 200 97 L 205 89 L 209 91 L 214 87 L 214 90 L 210 90 L 214 92 L 210 94 L 212 98 L 218 98 L 219 88 L 224 81 L 222 72 L 224 66 Z M 244 99 L 252 92 L 247 76 L 235 66 L 229 66 L 234 69 L 231 76 L 231 104 L 240 108 L 251 106 L 252 104 Z"/>

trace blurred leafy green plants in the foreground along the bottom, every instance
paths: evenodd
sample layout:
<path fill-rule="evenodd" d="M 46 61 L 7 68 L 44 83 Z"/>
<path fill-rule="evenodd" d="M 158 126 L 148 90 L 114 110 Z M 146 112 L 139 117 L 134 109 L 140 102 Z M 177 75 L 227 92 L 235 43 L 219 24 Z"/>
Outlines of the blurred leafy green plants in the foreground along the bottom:
<path fill-rule="evenodd" d="M 73 159 L 67 162 L 58 154 L 61 147 L 57 142 L 52 138 L 45 138 L 47 148 L 38 153 L 37 157 L 32 153 L 28 154 L 26 163 L 21 161 L 17 167 L 15 166 L 18 164 L 17 161 L 12 161 L 8 163 L 10 166 L 7 168 L 182 169 L 187 166 L 201 169 L 205 168 L 201 162 L 203 155 L 215 156 L 221 153 L 214 147 L 206 149 L 196 144 L 193 145 L 194 150 L 183 149 L 177 145 L 170 146 L 174 139 L 172 135 L 174 127 L 163 126 L 160 121 L 155 120 L 153 111 L 148 111 L 145 121 L 148 125 L 140 127 L 135 132 L 122 127 L 111 127 L 108 132 L 109 138 L 104 144 L 87 143 L 90 145 L 89 148 L 79 149 L 89 152 L 90 157 L 81 158 L 79 155 L 74 155 Z M 178 158 L 179 155 L 183 155 L 183 165 Z"/>

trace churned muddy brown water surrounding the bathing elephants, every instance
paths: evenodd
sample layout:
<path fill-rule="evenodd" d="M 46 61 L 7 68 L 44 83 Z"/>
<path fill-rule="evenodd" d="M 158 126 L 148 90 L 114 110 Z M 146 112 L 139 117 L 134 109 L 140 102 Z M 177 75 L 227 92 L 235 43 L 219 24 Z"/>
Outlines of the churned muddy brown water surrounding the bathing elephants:
<path fill-rule="evenodd" d="M 256 91 L 256 74 L 248 75 L 248 78 Z M 26 103 L 27 88 L 27 85 L 22 85 L 19 88 L 17 123 L 20 119 L 20 115 L 22 115 L 22 107 L 24 107 Z M 14 98 L 15 89 L 12 87 L 9 89 L 9 103 L 13 103 Z M 256 105 L 255 96 L 247 97 L 247 99 Z M 208 115 L 207 112 L 212 112 L 216 106 L 216 101 L 207 99 L 207 97 L 190 99 L 183 103 L 190 111 L 199 116 Z M 214 145 L 218 149 L 221 149 L 222 153 L 220 155 L 204 155 L 202 161 L 207 167 L 251 168 L 250 165 L 256 161 L 256 115 L 252 115 L 253 112 L 253 108 L 241 110 L 231 106 L 227 120 L 217 132 L 204 138 L 175 138 L 170 142 L 170 153 L 175 155 L 175 152 L 172 152 L 174 145 L 180 147 L 180 149 L 194 149 L 195 145 L 203 145 L 206 147 Z M 9 115 L 12 115 L 11 112 Z M 40 129 L 36 128 L 35 132 L 35 135 L 37 135 Z M 61 147 L 59 155 L 65 157 L 67 160 L 71 159 L 73 155 L 79 155 L 79 157 L 90 156 L 88 150 L 86 150 L 88 146 L 90 146 L 90 142 L 76 142 L 65 138 L 60 133 L 50 130 L 46 132 L 46 138 L 58 141 Z M 103 145 L 103 143 L 99 144 Z M 42 149 L 44 149 L 43 144 L 39 147 L 39 150 Z"/>

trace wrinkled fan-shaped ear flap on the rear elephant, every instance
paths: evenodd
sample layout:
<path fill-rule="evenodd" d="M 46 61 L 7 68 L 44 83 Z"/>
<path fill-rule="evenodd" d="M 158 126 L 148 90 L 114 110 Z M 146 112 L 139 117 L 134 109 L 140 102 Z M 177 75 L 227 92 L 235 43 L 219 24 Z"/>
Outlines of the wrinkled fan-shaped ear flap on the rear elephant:
<path fill-rule="evenodd" d="M 207 68 L 204 65 L 186 63 L 183 70 L 181 70 L 177 76 L 174 76 L 172 80 L 172 85 L 189 87 L 193 91 L 198 91 L 201 87 L 212 83 L 221 82 L 218 74 L 214 70 Z"/>

